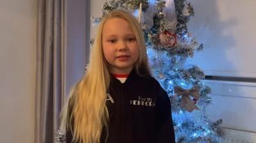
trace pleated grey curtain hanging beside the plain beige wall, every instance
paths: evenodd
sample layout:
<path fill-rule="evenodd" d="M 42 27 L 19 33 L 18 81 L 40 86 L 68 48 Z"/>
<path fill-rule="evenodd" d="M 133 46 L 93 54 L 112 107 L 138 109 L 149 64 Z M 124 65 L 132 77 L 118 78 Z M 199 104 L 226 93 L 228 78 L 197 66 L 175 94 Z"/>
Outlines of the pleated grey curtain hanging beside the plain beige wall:
<path fill-rule="evenodd" d="M 35 142 L 54 142 L 65 99 L 65 0 L 38 0 Z"/>

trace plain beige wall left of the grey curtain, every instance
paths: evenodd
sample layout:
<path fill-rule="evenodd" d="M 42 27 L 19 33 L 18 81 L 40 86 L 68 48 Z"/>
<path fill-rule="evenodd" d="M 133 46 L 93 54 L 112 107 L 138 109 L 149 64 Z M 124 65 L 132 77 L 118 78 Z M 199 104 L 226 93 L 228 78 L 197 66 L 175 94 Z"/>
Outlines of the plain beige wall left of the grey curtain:
<path fill-rule="evenodd" d="M 36 1 L 0 1 L 0 142 L 33 143 Z"/>

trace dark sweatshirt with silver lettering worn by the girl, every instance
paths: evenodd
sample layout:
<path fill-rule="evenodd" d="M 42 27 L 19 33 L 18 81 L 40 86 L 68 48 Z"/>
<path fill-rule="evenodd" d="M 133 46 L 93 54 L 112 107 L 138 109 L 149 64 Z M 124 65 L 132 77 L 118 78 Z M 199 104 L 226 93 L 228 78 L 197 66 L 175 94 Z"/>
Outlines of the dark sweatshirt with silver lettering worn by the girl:
<path fill-rule="evenodd" d="M 123 84 L 112 77 L 106 105 L 109 111 L 106 143 L 175 143 L 168 94 L 153 77 L 140 77 L 134 70 Z M 70 130 L 66 136 L 70 143 Z M 105 139 L 103 129 L 100 143 Z"/>

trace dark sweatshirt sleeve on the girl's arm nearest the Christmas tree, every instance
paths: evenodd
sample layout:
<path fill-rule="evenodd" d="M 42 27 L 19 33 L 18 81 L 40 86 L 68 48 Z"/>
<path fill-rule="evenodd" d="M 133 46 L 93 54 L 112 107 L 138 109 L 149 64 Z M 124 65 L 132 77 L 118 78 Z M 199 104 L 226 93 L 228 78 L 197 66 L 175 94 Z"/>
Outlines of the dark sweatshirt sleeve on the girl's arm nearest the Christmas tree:
<path fill-rule="evenodd" d="M 168 94 L 159 86 L 156 100 L 157 143 L 175 143 L 171 103 Z"/>

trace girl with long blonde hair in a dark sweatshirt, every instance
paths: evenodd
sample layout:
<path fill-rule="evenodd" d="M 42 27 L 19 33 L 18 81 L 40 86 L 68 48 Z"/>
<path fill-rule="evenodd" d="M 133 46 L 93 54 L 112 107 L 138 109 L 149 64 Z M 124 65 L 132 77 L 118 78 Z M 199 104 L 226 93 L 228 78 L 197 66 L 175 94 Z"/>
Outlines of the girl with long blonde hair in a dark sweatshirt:
<path fill-rule="evenodd" d="M 143 32 L 129 12 L 102 18 L 89 65 L 62 112 L 67 143 L 175 142 L 168 94 L 150 76 Z"/>

